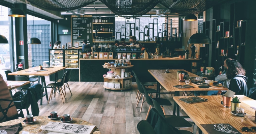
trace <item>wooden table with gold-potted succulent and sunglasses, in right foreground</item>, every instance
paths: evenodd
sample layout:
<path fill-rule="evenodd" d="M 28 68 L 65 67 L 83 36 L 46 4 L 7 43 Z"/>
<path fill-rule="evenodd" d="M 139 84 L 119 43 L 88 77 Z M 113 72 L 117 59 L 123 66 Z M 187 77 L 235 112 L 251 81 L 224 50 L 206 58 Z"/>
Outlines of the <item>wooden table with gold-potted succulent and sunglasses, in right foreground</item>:
<path fill-rule="evenodd" d="M 245 110 L 246 116 L 236 116 L 231 114 L 230 108 L 224 108 L 221 105 L 221 96 L 199 96 L 203 98 L 207 98 L 209 101 L 202 103 L 194 103 L 194 104 L 186 104 L 180 100 L 179 98 L 183 98 L 186 96 L 175 96 L 173 97 L 174 101 L 180 105 L 182 110 L 184 110 L 187 115 L 195 122 L 195 125 L 199 127 L 199 129 L 204 133 L 208 134 L 208 132 L 201 126 L 201 124 L 221 124 L 228 123 L 233 126 L 236 130 L 242 132 L 240 128 L 242 127 L 252 127 L 256 124 L 251 124 L 249 118 L 247 116 L 254 116 L 255 110 L 250 107 L 256 107 L 256 100 L 253 100 L 244 95 L 235 95 L 240 98 L 241 108 Z M 194 134 L 196 131 L 196 127 L 194 127 Z M 201 132 L 200 131 L 200 132 Z M 255 134 L 255 132 L 248 132 Z"/>

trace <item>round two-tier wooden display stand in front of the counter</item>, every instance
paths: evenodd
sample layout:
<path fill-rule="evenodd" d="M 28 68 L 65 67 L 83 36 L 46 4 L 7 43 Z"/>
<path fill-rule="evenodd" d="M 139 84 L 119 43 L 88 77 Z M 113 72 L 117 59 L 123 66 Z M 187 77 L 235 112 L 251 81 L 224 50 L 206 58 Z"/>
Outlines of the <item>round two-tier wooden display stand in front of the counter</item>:
<path fill-rule="evenodd" d="M 115 67 L 115 66 L 105 66 L 105 65 L 102 65 L 103 68 L 107 68 L 107 69 L 111 69 L 111 71 L 114 71 L 114 74 L 116 75 L 119 75 L 120 77 L 122 76 L 122 69 L 129 69 L 129 68 L 132 68 L 133 65 L 128 65 L 128 66 L 122 66 L 122 67 Z M 132 75 L 130 75 L 130 77 L 125 77 L 125 78 L 109 78 L 109 77 L 104 77 L 104 84 L 103 84 L 103 87 L 105 89 L 110 89 L 110 90 L 126 90 L 126 89 L 131 89 L 132 88 Z M 126 80 L 130 80 L 130 84 L 129 82 L 128 83 L 125 83 Z M 120 88 L 109 88 L 109 87 L 105 87 L 105 82 L 119 82 L 120 83 Z M 127 84 L 127 86 L 126 86 Z M 126 87 L 125 87 L 126 86 Z"/>

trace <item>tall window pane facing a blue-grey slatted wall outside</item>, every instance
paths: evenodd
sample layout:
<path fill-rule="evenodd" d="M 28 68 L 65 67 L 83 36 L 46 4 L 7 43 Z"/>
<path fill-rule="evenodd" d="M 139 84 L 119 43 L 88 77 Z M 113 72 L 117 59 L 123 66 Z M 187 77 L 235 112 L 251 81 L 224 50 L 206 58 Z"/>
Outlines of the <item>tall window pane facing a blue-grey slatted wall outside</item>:
<path fill-rule="evenodd" d="M 29 68 L 43 65 L 44 61 L 49 61 L 51 42 L 51 21 L 27 14 L 28 40 L 32 37 L 38 38 L 42 44 L 28 45 Z"/>

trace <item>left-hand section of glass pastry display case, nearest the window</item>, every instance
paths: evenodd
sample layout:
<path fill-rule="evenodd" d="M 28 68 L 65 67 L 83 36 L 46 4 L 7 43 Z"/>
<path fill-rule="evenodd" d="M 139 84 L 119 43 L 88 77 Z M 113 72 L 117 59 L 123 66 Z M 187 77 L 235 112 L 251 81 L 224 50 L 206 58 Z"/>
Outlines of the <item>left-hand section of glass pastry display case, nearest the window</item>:
<path fill-rule="evenodd" d="M 50 66 L 63 67 L 63 49 L 49 49 Z"/>

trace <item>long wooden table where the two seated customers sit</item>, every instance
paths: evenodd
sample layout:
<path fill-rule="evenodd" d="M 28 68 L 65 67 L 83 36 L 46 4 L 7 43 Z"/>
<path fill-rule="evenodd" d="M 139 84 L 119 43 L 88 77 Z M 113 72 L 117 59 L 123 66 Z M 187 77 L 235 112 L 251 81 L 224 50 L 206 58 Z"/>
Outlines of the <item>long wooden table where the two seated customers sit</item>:
<path fill-rule="evenodd" d="M 176 88 L 173 87 L 175 85 L 184 85 L 185 82 L 180 82 L 179 77 L 177 77 L 177 71 L 178 69 L 172 69 L 169 70 L 169 73 L 165 73 L 165 70 L 148 70 L 149 73 L 157 80 L 157 91 L 158 95 L 157 97 L 160 98 L 160 84 L 167 90 L 167 91 L 174 91 L 174 96 L 180 96 L 180 91 L 209 91 L 209 90 L 227 90 L 227 88 L 199 88 L 197 84 L 194 84 L 192 82 L 189 83 L 189 85 L 194 86 L 194 88 Z M 193 73 L 190 73 L 186 70 L 181 69 L 181 71 L 185 71 L 189 74 L 189 77 L 199 77 L 198 75 L 195 75 Z M 173 115 L 175 115 L 177 108 L 177 116 L 180 116 L 180 108 L 177 103 L 174 103 L 173 108 Z"/>

